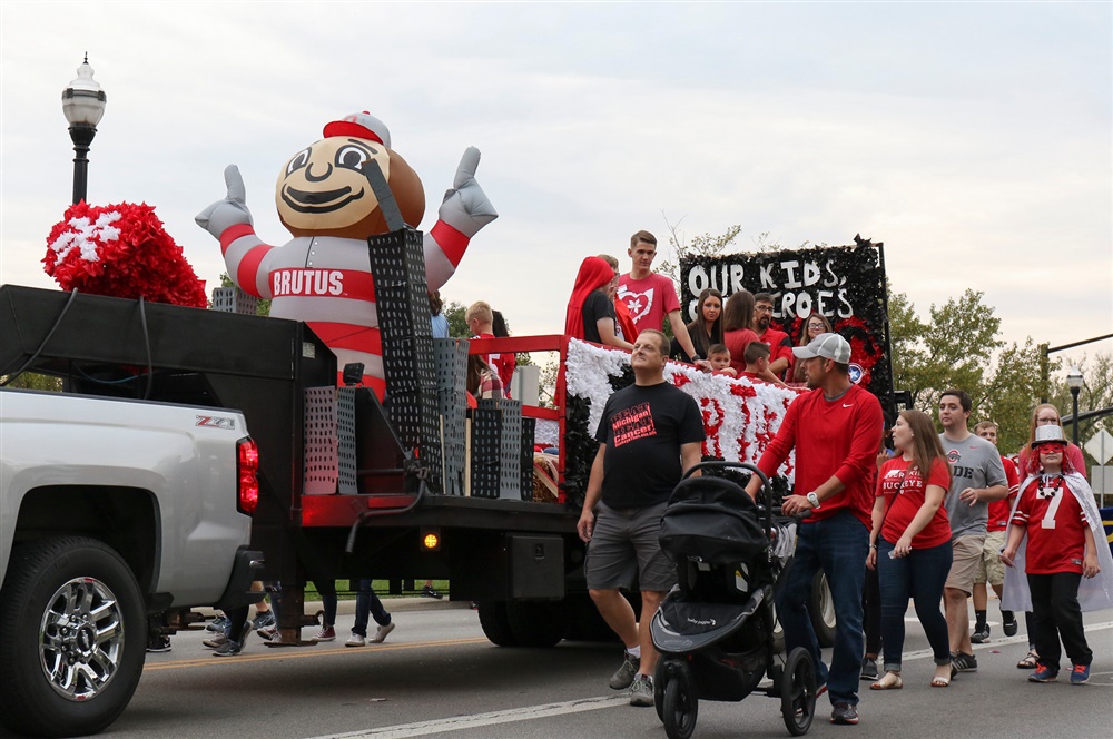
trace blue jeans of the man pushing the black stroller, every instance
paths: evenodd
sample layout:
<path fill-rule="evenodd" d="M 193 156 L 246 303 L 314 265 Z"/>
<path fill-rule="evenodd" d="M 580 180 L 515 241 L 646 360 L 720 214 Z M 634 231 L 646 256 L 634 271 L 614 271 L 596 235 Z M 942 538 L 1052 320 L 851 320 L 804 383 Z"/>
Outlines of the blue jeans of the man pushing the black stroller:
<path fill-rule="evenodd" d="M 847 511 L 815 523 L 804 523 L 792 566 L 777 599 L 777 614 L 785 627 L 785 647 L 788 651 L 804 647 L 811 653 L 816 679 L 819 684 L 827 683 L 833 704 L 858 704 L 858 676 L 864 648 L 861 589 L 868 552 L 869 531 Z M 830 669 L 824 664 L 808 614 L 811 581 L 820 569 L 827 574 L 838 620 Z"/>

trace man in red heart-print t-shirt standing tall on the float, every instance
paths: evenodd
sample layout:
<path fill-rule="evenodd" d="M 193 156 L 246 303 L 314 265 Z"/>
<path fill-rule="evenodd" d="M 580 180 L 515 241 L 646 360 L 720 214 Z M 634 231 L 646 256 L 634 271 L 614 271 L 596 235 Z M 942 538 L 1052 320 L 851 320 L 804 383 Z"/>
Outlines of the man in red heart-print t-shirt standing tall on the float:
<path fill-rule="evenodd" d="M 630 248 L 627 249 L 633 263 L 630 272 L 619 277 L 619 298 L 626 303 L 638 333 L 652 328 L 661 331 L 664 318 L 672 326 L 672 335 L 677 337 L 680 348 L 688 356 L 697 356 L 692 346 L 688 326 L 680 317 L 680 298 L 677 297 L 677 286 L 672 280 L 659 273 L 652 272 L 653 258 L 657 256 L 657 237 L 647 230 L 640 230 L 630 237 Z M 708 368 L 705 359 L 698 359 L 696 366 Z"/>

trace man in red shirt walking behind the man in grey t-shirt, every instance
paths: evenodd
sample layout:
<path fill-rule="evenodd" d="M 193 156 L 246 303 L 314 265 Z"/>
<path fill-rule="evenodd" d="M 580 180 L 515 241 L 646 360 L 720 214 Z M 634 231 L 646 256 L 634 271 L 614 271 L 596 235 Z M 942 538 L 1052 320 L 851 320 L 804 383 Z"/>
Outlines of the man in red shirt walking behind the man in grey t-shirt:
<path fill-rule="evenodd" d="M 974 426 L 974 433 L 986 440 L 994 446 L 997 445 L 997 424 L 992 421 L 983 421 Z M 1001 601 L 1001 589 L 1005 582 L 1005 568 L 1001 563 L 1001 550 L 1005 549 L 1005 530 L 1008 528 L 1008 514 L 1013 510 L 1013 501 L 1020 492 L 1021 481 L 1016 476 L 1016 465 L 1013 461 L 1004 456 L 1001 463 L 1005 465 L 1005 480 L 1008 481 L 1008 496 L 997 501 L 989 501 L 989 520 L 986 522 L 985 544 L 982 546 L 982 561 L 978 562 L 977 572 L 974 574 L 974 633 L 971 634 L 971 642 L 981 644 L 989 640 L 989 623 L 985 620 L 986 607 L 989 602 L 985 583 L 988 582 L 993 592 Z M 1016 614 L 1002 609 L 1001 628 L 1006 637 L 1016 634 Z"/>

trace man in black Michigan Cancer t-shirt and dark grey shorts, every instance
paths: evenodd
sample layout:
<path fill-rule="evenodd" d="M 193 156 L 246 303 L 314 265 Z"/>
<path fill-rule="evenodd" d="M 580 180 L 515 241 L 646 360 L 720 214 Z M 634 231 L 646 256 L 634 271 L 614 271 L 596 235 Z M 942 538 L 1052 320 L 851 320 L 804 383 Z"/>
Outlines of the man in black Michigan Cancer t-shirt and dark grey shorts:
<path fill-rule="evenodd" d="M 577 530 L 589 542 L 588 592 L 626 646 L 615 690 L 630 687 L 631 706 L 653 704 L 657 650 L 649 622 L 677 580 L 661 552 L 661 514 L 684 470 L 700 461 L 703 418 L 696 401 L 664 381 L 669 339 L 659 331 L 638 335 L 630 355 L 634 384 L 607 401 L 595 440 L 587 497 Z M 641 623 L 620 592 L 638 575 Z"/>

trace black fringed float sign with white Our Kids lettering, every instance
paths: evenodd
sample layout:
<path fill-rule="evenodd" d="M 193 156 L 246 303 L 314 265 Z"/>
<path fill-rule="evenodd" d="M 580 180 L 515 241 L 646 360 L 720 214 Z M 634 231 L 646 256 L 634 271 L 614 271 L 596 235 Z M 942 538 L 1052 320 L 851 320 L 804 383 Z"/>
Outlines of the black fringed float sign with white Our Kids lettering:
<path fill-rule="evenodd" d="M 713 288 L 723 302 L 747 289 L 774 297 L 772 326 L 800 343 L 808 316 L 823 314 L 850 342 L 850 376 L 893 408 L 888 356 L 884 245 L 855 237 L 853 246 L 821 246 L 759 254 L 684 257 L 680 302 L 684 322 L 696 317 L 699 294 Z"/>

